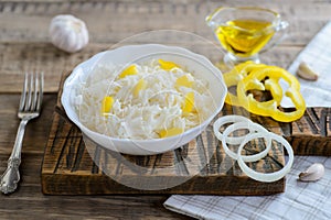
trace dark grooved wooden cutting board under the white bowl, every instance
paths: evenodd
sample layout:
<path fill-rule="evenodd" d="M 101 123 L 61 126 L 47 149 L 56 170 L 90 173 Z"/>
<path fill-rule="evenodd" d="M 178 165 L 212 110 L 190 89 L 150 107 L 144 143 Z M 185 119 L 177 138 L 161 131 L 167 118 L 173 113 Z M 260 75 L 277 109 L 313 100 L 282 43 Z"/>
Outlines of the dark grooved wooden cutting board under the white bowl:
<path fill-rule="evenodd" d="M 109 194 L 201 194 L 271 195 L 285 190 L 285 179 L 259 183 L 242 173 L 235 161 L 224 153 L 212 125 L 189 144 L 164 154 L 131 156 L 106 150 L 88 139 L 66 117 L 60 97 L 45 146 L 41 182 L 46 195 Z M 242 108 L 224 106 L 218 117 L 247 116 Z M 284 135 L 297 155 L 331 155 L 331 110 L 310 108 L 292 123 L 249 114 L 277 134 Z M 252 144 L 247 153 L 264 148 Z M 276 172 L 285 164 L 282 146 L 273 143 L 268 156 L 249 163 L 258 172 Z"/>

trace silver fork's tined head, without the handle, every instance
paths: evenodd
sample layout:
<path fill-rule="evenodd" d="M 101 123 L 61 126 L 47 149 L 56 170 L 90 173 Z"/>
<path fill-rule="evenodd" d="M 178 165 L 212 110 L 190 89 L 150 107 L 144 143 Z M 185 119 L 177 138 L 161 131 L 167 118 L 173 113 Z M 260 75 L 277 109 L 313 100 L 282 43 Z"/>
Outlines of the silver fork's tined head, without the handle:
<path fill-rule="evenodd" d="M 19 111 L 40 111 L 43 99 L 43 73 L 25 73 Z"/>

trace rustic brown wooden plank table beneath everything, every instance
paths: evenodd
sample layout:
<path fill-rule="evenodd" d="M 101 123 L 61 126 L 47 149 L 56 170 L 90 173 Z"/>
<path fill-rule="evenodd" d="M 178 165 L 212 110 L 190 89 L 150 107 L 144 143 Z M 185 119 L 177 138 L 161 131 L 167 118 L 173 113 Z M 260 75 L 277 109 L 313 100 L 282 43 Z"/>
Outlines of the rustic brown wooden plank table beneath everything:
<path fill-rule="evenodd" d="M 145 31 L 174 29 L 214 41 L 204 18 L 218 6 L 259 6 L 280 12 L 290 23 L 288 37 L 266 53 L 263 61 L 285 68 L 331 18 L 328 0 L 1 1 L 0 173 L 7 167 L 17 133 L 23 73 L 43 70 L 46 94 L 41 117 L 26 128 L 20 187 L 10 196 L 0 196 L 0 218 L 185 219 L 163 208 L 168 196 L 44 196 L 41 164 L 63 73 L 125 37 Z M 61 13 L 72 13 L 86 22 L 90 43 L 82 52 L 70 55 L 50 43 L 50 21 Z"/>

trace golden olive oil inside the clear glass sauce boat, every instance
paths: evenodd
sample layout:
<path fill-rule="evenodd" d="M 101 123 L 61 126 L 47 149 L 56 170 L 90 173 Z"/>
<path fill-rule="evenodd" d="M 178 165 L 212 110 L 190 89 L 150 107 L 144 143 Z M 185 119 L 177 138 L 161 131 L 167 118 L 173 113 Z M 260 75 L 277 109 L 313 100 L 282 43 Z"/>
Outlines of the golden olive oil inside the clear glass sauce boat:
<path fill-rule="evenodd" d="M 273 37 L 275 30 L 268 29 L 271 25 L 259 20 L 232 20 L 220 25 L 215 34 L 226 51 L 239 57 L 249 57 Z"/>

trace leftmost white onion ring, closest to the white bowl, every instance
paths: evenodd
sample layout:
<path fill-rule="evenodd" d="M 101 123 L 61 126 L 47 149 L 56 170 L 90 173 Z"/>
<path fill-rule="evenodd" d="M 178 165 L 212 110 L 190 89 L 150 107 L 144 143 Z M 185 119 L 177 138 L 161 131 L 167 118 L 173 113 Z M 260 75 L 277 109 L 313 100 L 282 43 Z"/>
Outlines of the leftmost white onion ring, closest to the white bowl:
<path fill-rule="evenodd" d="M 252 122 L 249 119 L 242 117 L 242 116 L 224 116 L 217 119 L 213 125 L 215 136 L 221 141 L 223 139 L 223 134 L 220 132 L 221 127 L 227 123 L 235 123 L 235 122 Z M 252 122 L 253 123 L 253 122 Z M 249 133 L 255 132 L 254 130 L 249 130 Z M 224 132 L 223 132 L 224 133 Z M 245 139 L 244 136 L 227 136 L 226 142 L 229 144 L 241 144 L 242 141 Z"/>

